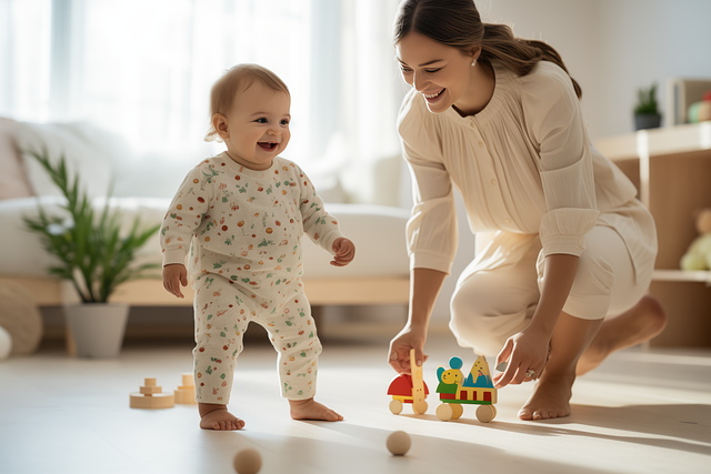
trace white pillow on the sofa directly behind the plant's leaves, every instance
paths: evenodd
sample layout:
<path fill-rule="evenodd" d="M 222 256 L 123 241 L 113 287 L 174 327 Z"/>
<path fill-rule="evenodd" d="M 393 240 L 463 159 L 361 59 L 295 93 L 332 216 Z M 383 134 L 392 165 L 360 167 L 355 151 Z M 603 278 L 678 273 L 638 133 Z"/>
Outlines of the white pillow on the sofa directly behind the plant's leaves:
<path fill-rule="evenodd" d="M 47 148 L 51 163 L 58 163 L 64 154 L 70 179 L 79 173 L 80 186 L 90 198 L 106 196 L 113 175 L 107 151 L 107 148 L 110 151 L 110 147 L 94 139 L 103 133 L 106 132 L 86 122 L 18 122 L 17 143 L 34 194 L 61 195 L 47 171 L 30 154 L 30 151 L 41 153 Z"/>

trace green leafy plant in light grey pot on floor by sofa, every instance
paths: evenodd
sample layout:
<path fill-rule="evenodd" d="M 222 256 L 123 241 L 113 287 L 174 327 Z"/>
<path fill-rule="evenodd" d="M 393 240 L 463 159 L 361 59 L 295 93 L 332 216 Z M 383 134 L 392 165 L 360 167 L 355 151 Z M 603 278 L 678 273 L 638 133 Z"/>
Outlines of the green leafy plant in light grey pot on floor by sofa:
<path fill-rule="evenodd" d="M 149 275 L 159 263 L 136 264 L 137 251 L 160 229 L 160 223 L 144 226 L 140 218 L 123 229 L 121 212 L 111 209 L 109 196 L 103 210 L 97 211 L 79 184 L 79 175 L 70 179 L 62 154 L 53 164 L 47 149 L 28 151 L 49 173 L 61 190 L 66 203 L 63 215 L 48 215 L 38 205 L 38 218 L 24 218 L 27 228 L 40 234 L 44 249 L 59 260 L 49 273 L 69 280 L 82 303 L 66 305 L 64 315 L 77 344 L 77 355 L 86 357 L 117 356 L 121 350 L 129 306 L 109 303 L 116 288 L 127 281 Z"/>

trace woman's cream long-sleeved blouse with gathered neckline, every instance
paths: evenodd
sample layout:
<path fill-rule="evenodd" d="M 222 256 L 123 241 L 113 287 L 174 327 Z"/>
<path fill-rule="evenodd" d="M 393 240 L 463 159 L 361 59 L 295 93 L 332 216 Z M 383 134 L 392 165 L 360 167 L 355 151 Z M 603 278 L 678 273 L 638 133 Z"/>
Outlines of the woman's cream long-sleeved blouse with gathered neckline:
<path fill-rule="evenodd" d="M 403 100 L 398 131 L 413 181 L 411 269 L 450 273 L 454 184 L 471 231 L 498 231 L 478 249 L 481 269 L 515 264 L 538 238 L 545 255 L 579 256 L 585 233 L 605 225 L 625 241 L 637 279 L 651 272 L 653 220 L 632 182 L 592 147 L 568 73 L 548 61 L 524 77 L 493 69 L 493 95 L 474 115 L 431 113 L 414 89 Z"/>

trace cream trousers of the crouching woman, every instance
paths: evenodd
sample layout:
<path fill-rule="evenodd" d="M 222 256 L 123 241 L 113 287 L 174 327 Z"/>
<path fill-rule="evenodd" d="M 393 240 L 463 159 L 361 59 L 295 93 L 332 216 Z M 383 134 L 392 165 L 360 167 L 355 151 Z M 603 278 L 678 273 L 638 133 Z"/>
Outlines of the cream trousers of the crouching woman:
<path fill-rule="evenodd" d="M 612 229 L 595 226 L 585 234 L 585 250 L 563 312 L 599 320 L 631 309 L 652 279 L 634 275 L 624 241 Z M 497 355 L 507 339 L 530 322 L 543 279 L 544 258 L 538 241 L 515 265 L 478 271 L 470 264 L 452 296 L 450 329 L 462 347 Z"/>

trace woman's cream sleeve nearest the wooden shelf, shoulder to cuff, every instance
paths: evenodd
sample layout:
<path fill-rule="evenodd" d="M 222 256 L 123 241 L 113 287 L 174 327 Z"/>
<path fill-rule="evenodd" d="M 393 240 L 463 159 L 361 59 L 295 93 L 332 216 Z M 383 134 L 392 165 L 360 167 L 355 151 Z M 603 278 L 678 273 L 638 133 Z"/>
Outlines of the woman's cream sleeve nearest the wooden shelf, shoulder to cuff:
<path fill-rule="evenodd" d="M 592 153 L 580 102 L 568 74 L 532 78 L 523 87 L 528 128 L 540 147 L 540 175 L 545 198 L 540 238 L 545 255 L 580 256 L 597 209 Z"/>

